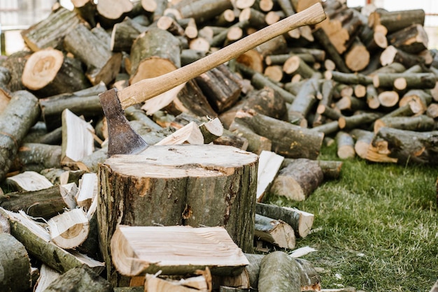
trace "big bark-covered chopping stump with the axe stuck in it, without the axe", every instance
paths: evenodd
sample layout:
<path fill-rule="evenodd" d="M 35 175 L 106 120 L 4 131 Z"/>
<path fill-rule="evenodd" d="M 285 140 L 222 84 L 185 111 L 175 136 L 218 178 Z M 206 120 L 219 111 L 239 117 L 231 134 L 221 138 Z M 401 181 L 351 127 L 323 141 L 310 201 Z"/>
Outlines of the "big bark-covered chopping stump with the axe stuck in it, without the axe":
<path fill-rule="evenodd" d="M 225 145 L 150 146 L 99 166 L 100 247 L 107 277 L 127 284 L 111 265 L 118 224 L 224 226 L 244 251 L 253 249 L 258 156 Z"/>

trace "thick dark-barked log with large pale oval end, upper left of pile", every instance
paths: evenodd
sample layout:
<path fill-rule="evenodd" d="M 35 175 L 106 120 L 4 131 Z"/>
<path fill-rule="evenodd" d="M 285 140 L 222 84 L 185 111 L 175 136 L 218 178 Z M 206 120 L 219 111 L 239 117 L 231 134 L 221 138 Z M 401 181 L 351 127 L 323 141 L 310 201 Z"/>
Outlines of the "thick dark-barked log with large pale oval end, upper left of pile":
<path fill-rule="evenodd" d="M 38 97 L 76 92 L 90 87 L 80 61 L 50 48 L 34 52 L 27 59 L 22 84 Z"/>

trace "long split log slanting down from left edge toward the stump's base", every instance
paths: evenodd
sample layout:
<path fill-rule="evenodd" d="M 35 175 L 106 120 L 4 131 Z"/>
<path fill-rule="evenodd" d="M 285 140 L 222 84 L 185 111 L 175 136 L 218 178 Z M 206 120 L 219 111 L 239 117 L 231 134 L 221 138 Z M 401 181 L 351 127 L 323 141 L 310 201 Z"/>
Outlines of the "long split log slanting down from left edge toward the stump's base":
<path fill-rule="evenodd" d="M 57 272 L 67 272 L 71 268 L 87 265 L 98 274 L 104 269 L 104 263 L 95 261 L 76 251 L 65 251 L 50 242 L 50 235 L 45 228 L 36 224 L 21 213 L 14 213 L 3 208 L 0 212 L 8 217 L 10 234 L 22 242 L 32 257 L 45 263 Z"/>

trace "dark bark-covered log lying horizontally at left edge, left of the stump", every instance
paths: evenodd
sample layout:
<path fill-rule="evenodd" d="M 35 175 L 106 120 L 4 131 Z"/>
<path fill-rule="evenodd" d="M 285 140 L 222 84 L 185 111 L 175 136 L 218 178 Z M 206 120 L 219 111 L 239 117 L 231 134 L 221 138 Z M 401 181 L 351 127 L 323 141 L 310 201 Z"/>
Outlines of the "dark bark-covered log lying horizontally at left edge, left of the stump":
<path fill-rule="evenodd" d="M 38 191 L 15 191 L 0 196 L 0 207 L 12 212 L 24 210 L 31 217 L 49 219 L 64 209 L 76 207 L 67 189 L 55 185 Z"/>

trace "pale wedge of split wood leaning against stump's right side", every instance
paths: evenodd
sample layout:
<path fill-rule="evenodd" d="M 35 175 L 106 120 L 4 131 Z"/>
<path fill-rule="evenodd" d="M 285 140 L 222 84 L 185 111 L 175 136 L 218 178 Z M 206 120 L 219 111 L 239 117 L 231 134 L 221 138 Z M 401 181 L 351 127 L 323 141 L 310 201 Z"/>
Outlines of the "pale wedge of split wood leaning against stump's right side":
<path fill-rule="evenodd" d="M 284 157 L 270 151 L 262 151 L 257 168 L 257 202 L 263 200 L 264 194 L 276 177 Z"/>

